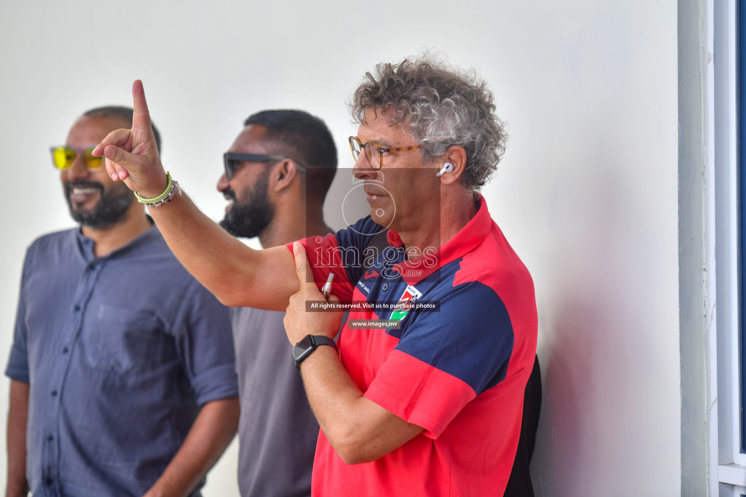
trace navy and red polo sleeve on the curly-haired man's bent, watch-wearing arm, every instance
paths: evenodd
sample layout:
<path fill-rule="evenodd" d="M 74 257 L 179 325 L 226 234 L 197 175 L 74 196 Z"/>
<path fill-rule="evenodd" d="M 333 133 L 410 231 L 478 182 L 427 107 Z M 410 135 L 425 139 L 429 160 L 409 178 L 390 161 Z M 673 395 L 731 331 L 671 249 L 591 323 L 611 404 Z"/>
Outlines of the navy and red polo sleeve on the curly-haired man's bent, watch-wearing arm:
<path fill-rule="evenodd" d="M 413 321 L 365 393 L 431 438 L 505 378 L 513 352 L 513 326 L 492 288 L 457 285 L 439 304 L 439 311 L 413 310 L 404 317 Z"/>

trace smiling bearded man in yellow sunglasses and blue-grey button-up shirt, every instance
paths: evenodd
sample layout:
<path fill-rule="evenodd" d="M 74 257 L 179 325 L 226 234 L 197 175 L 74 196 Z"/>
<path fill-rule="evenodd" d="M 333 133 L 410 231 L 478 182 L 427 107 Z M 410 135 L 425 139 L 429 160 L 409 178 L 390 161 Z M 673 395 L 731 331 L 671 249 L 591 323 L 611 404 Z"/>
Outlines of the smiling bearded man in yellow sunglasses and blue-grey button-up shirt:
<path fill-rule="evenodd" d="M 228 310 L 91 155 L 132 118 L 90 110 L 51 148 L 81 226 L 26 254 L 6 370 L 9 497 L 199 496 L 236 433 Z"/>

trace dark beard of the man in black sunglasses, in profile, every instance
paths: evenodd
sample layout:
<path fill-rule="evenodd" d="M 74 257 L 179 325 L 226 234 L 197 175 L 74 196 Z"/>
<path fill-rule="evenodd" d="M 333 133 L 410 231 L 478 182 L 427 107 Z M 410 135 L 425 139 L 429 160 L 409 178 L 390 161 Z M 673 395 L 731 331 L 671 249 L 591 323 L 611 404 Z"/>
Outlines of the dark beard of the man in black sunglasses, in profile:
<path fill-rule="evenodd" d="M 267 186 L 269 186 L 269 168 L 266 168 L 265 173 L 254 183 L 251 200 L 248 203 L 239 203 L 233 189 L 223 191 L 225 197 L 233 199 L 233 206 L 225 213 L 220 226 L 233 236 L 242 238 L 259 236 L 275 217 L 275 209 L 272 209 L 272 204 L 267 198 Z"/>

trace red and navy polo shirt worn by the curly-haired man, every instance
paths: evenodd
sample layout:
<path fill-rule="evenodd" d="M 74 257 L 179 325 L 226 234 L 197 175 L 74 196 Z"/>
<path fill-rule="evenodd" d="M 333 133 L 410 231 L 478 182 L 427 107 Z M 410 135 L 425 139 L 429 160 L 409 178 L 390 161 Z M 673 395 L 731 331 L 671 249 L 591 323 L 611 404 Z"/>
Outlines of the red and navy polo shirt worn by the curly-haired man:
<path fill-rule="evenodd" d="M 364 395 L 424 432 L 374 462 L 349 465 L 321 431 L 313 495 L 502 496 L 536 353 L 531 276 L 483 197 L 466 227 L 417 259 L 389 231 L 373 264 L 361 260 L 381 229 L 368 217 L 302 243 L 319 287 L 335 273 L 340 300 L 423 304 L 353 310 L 338 346 Z M 400 329 L 350 328 L 391 318 Z"/>

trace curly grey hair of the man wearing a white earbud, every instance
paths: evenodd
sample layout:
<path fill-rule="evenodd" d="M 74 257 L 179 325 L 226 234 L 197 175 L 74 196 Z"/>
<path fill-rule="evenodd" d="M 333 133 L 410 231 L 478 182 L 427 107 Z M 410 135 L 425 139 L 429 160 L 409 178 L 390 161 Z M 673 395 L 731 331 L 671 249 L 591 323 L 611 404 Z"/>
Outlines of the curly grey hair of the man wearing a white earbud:
<path fill-rule="evenodd" d="M 350 101 L 353 121 L 365 124 L 366 110 L 391 112 L 391 124 L 404 125 L 420 145 L 423 159 L 449 147 L 466 151 L 461 182 L 478 191 L 505 152 L 505 124 L 495 115 L 492 92 L 474 69 L 462 72 L 428 54 L 398 64 L 380 63 L 366 72 Z"/>

